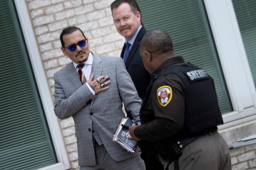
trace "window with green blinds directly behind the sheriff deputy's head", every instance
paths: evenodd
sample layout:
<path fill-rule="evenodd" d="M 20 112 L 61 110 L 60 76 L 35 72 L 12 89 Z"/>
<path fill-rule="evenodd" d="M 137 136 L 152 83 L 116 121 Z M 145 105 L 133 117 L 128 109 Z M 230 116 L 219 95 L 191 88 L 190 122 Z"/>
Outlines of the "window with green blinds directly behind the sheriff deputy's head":
<path fill-rule="evenodd" d="M 163 29 L 176 55 L 203 68 L 213 79 L 221 113 L 233 110 L 201 0 L 137 0 L 148 30 Z"/>

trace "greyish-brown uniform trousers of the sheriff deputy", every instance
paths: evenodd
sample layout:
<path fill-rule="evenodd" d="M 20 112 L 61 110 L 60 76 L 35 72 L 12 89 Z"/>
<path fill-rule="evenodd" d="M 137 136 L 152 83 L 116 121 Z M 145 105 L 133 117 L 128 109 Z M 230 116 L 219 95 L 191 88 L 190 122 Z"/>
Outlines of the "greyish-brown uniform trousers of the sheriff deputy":
<path fill-rule="evenodd" d="M 168 165 L 161 162 L 165 167 Z M 182 149 L 179 167 L 180 170 L 231 170 L 228 145 L 217 131 L 199 137 Z M 174 161 L 168 170 L 174 170 Z"/>

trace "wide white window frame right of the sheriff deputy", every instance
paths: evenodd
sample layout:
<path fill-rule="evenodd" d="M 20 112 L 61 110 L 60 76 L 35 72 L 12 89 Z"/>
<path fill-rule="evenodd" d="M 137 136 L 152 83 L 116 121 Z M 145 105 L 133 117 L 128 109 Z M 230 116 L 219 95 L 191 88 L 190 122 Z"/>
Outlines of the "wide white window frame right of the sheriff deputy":
<path fill-rule="evenodd" d="M 232 0 L 204 0 L 234 111 L 224 114 L 224 130 L 256 120 L 256 90 Z"/>

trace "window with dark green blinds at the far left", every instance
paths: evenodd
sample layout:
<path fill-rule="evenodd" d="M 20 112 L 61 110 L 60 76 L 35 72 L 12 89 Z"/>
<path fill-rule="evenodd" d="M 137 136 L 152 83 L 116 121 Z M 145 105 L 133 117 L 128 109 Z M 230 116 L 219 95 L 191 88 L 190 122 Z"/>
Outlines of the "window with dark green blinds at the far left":
<path fill-rule="evenodd" d="M 1 0 L 0 9 L 0 165 L 52 165 L 55 152 L 13 1 Z"/>

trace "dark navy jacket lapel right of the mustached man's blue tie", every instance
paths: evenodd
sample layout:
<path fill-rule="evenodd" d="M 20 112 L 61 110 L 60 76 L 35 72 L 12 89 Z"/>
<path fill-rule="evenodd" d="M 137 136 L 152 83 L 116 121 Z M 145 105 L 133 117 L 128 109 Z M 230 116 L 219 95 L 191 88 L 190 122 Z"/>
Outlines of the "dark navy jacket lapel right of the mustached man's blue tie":
<path fill-rule="evenodd" d="M 130 50 L 130 52 L 129 52 L 129 55 L 128 55 L 128 57 L 127 57 L 127 60 L 126 60 L 126 62 L 125 62 L 125 67 L 126 67 L 126 69 L 128 68 L 129 64 L 131 63 L 132 58 L 133 58 L 133 56 L 134 56 L 136 50 L 137 50 L 138 47 L 140 46 L 140 40 L 142 39 L 143 34 L 144 34 L 145 31 L 146 31 L 146 29 L 142 26 L 141 29 L 140 29 L 140 31 L 139 31 L 139 33 L 138 33 L 138 35 L 137 35 L 137 37 L 135 38 L 135 40 L 134 40 L 134 42 L 133 42 L 133 44 L 132 44 L 132 48 L 131 48 L 131 50 Z M 123 49 L 124 49 L 124 48 L 125 48 L 125 47 L 123 47 Z"/>

